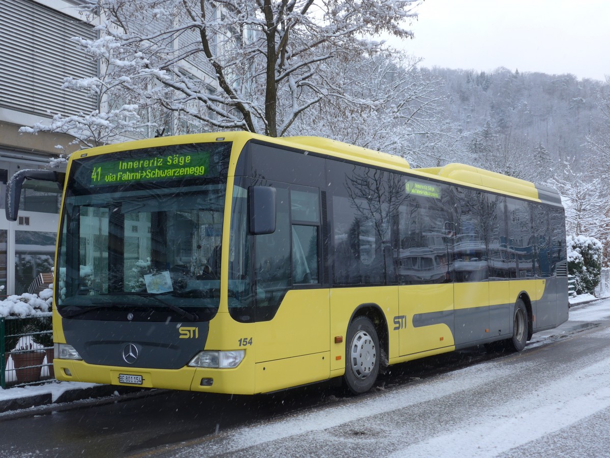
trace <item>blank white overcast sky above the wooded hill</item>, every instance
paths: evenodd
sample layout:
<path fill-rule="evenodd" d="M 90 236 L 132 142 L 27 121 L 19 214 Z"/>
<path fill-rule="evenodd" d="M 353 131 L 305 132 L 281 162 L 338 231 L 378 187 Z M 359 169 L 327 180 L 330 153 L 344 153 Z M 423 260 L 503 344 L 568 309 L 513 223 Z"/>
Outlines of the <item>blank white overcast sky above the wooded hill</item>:
<path fill-rule="evenodd" d="M 610 75 L 608 0 L 425 0 L 401 47 L 424 67 Z"/>

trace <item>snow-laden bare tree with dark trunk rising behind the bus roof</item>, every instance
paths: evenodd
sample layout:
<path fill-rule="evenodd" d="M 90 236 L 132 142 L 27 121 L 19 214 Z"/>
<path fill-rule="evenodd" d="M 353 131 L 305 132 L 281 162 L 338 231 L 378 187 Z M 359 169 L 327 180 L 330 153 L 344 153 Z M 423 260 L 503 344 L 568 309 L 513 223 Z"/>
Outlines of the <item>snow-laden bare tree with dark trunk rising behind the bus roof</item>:
<path fill-rule="evenodd" d="M 71 79 L 65 89 L 95 93 L 100 109 L 23 131 L 64 131 L 84 147 L 143 125 L 281 136 L 321 101 L 349 98 L 332 75 L 342 62 L 387 50 L 375 36 L 411 37 L 404 24 L 416 3 L 84 0 L 81 10 L 102 24 L 101 36 L 76 39 L 102 78 Z"/>

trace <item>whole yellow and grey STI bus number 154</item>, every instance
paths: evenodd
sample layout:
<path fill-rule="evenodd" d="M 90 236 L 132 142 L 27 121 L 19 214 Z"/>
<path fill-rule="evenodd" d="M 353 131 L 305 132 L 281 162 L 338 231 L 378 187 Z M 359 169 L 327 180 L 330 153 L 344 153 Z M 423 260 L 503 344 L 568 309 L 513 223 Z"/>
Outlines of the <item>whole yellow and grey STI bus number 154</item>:
<path fill-rule="evenodd" d="M 318 137 L 160 137 L 72 155 L 54 282 L 57 379 L 269 393 L 568 318 L 557 192 Z"/>

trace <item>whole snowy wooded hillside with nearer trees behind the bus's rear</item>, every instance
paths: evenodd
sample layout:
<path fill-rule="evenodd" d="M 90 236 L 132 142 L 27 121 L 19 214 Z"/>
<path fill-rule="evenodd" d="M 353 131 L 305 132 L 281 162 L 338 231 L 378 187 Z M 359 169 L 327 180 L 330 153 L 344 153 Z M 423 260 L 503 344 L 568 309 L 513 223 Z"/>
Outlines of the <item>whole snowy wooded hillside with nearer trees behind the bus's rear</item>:
<path fill-rule="evenodd" d="M 423 71 L 443 82 L 444 114 L 459 137 L 456 149 L 445 151 L 445 162 L 465 159 L 556 187 L 564 196 L 568 233 L 600 239 L 608 264 L 608 82 L 506 68 Z M 442 165 L 436 162 L 421 165 Z"/>

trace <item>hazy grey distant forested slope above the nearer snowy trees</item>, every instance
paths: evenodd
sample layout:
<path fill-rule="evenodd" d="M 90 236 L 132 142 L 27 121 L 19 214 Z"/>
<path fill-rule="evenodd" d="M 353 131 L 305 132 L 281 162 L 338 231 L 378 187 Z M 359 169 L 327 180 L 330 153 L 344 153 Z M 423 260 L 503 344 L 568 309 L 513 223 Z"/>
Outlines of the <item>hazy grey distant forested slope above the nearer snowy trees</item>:
<path fill-rule="evenodd" d="M 448 116 L 470 134 L 473 162 L 536 181 L 550 180 L 562 162 L 586 170 L 608 84 L 506 68 L 430 72 L 445 82 Z"/>

